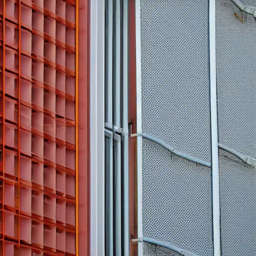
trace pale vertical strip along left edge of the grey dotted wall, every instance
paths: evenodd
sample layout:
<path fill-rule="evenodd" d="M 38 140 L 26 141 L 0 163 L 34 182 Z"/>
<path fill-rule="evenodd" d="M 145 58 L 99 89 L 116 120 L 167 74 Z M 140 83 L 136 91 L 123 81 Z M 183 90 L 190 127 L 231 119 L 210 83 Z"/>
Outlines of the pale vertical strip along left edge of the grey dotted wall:
<path fill-rule="evenodd" d="M 141 121 L 141 44 L 140 44 L 140 0 L 135 0 L 136 24 L 136 107 L 137 133 L 142 133 Z M 137 235 L 143 237 L 142 232 L 142 136 L 137 136 Z M 143 255 L 142 243 L 138 243 L 138 256 Z"/>

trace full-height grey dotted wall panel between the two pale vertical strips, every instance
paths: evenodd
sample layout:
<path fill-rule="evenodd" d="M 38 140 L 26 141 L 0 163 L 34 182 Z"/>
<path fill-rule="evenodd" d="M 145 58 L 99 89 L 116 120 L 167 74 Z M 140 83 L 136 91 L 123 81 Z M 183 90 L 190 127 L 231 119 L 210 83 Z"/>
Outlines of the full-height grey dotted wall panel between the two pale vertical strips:
<path fill-rule="evenodd" d="M 140 0 L 142 131 L 211 160 L 208 1 Z M 212 255 L 211 170 L 143 139 L 143 236 Z M 144 255 L 175 255 L 143 245 Z"/>

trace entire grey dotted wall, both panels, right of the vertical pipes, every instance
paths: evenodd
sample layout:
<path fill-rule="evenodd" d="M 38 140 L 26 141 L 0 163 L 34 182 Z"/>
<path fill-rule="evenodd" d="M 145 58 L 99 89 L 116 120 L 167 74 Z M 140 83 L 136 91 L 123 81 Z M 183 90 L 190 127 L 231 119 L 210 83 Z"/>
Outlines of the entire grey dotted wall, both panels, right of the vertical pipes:
<path fill-rule="evenodd" d="M 211 161 L 208 4 L 140 0 L 141 102 L 143 132 Z M 255 32 L 252 15 L 216 0 L 218 142 L 254 158 Z M 255 181 L 255 168 L 219 150 L 223 256 L 256 255 Z M 211 169 L 143 139 L 142 184 L 143 236 L 213 255 Z M 143 244 L 146 256 L 173 253 Z"/>

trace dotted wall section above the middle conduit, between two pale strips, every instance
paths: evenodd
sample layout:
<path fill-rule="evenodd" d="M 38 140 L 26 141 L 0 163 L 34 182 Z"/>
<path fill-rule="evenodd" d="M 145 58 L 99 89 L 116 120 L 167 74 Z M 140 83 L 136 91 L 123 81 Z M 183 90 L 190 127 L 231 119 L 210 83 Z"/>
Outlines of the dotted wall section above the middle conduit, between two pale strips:
<path fill-rule="evenodd" d="M 210 161 L 208 0 L 140 0 L 142 131 Z"/>

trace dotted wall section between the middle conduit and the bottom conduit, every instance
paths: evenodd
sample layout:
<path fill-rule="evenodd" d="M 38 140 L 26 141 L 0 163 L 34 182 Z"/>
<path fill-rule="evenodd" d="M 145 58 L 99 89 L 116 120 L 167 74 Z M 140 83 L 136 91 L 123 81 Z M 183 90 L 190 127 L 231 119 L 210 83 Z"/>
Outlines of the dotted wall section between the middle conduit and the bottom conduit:
<path fill-rule="evenodd" d="M 144 138 L 142 154 L 143 236 L 213 255 L 211 169 Z"/>

